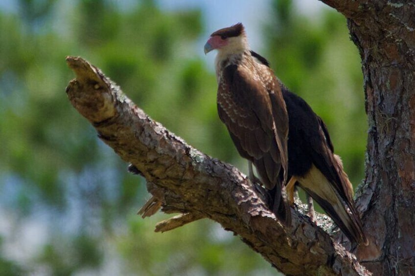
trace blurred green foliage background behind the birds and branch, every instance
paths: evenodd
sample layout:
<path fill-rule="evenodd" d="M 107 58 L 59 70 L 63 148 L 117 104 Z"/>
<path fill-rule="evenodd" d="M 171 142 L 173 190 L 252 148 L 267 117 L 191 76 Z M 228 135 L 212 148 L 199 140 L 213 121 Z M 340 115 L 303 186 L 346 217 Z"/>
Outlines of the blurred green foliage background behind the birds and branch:
<path fill-rule="evenodd" d="M 189 144 L 245 170 L 216 113 L 214 72 L 194 50 L 202 12 L 162 11 L 152 0 L 17 6 L 0 10 L 0 275 L 274 274 L 211 221 L 154 233 L 166 216 L 135 214 L 148 197 L 144 180 L 126 172 L 65 94 L 73 73 L 64 58 L 82 56 Z M 366 119 L 346 22 L 333 11 L 300 16 L 290 0 L 271 10 L 261 54 L 323 117 L 356 184 Z"/>

